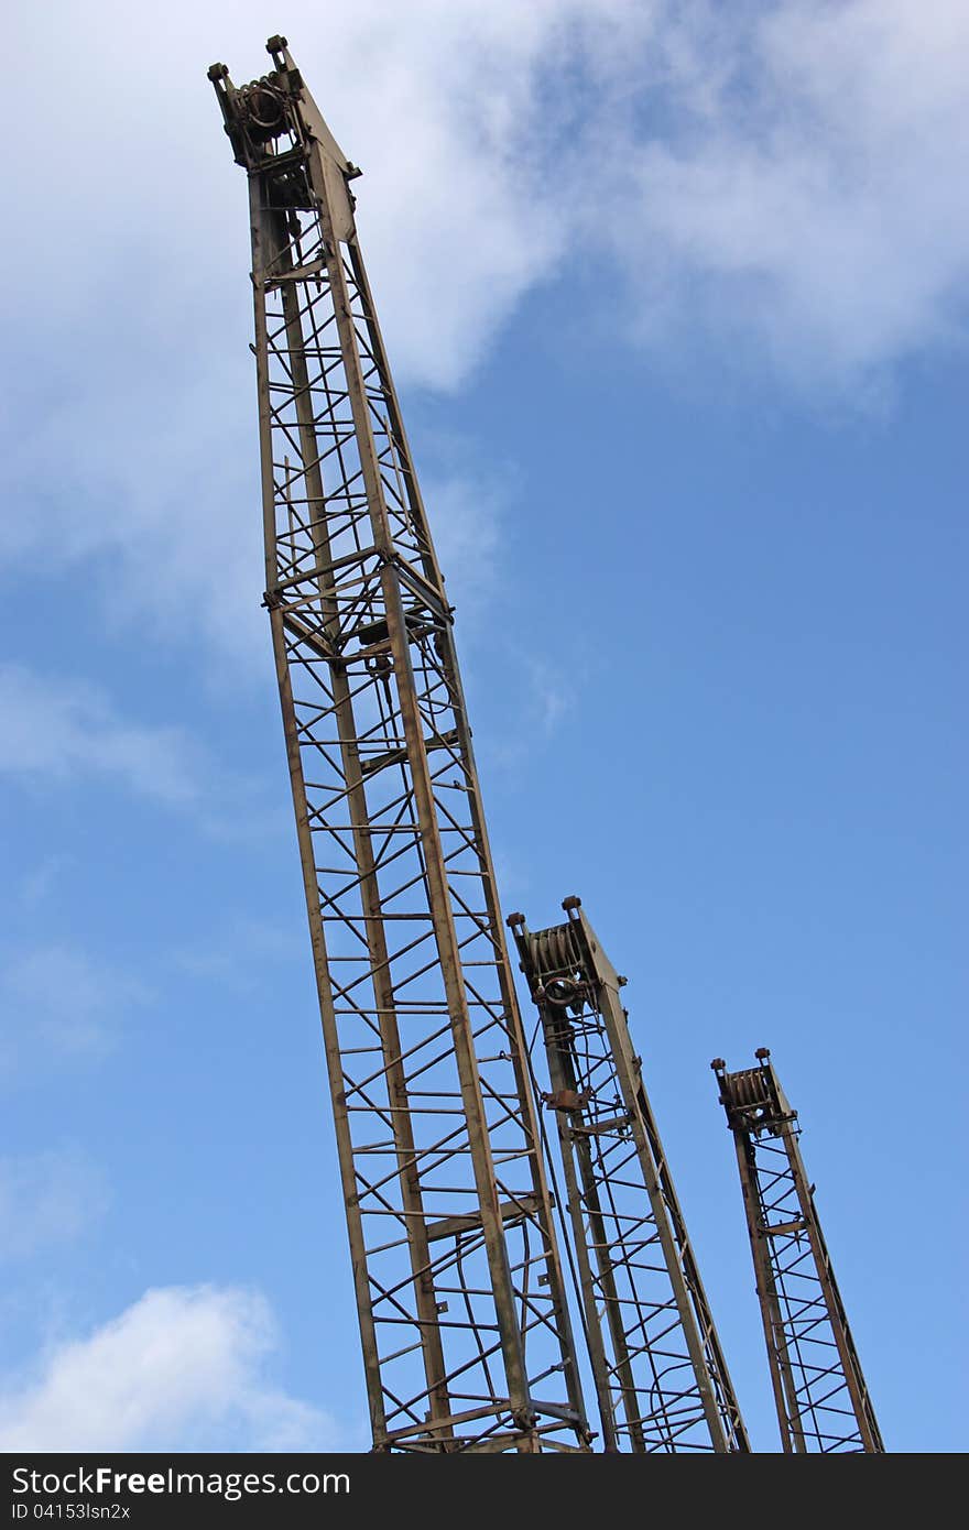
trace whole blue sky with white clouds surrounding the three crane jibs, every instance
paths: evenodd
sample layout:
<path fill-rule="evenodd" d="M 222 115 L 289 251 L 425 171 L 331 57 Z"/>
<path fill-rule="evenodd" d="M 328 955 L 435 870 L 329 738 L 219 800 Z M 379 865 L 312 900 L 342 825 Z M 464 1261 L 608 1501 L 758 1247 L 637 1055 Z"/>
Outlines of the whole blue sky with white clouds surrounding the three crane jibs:
<path fill-rule="evenodd" d="M 367 1443 L 205 80 L 282 28 L 364 168 L 502 901 L 579 892 L 629 975 L 755 1446 L 709 1060 L 767 1043 L 886 1444 L 964 1449 L 966 11 L 283 11 L 14 23 L 0 1443 Z"/>

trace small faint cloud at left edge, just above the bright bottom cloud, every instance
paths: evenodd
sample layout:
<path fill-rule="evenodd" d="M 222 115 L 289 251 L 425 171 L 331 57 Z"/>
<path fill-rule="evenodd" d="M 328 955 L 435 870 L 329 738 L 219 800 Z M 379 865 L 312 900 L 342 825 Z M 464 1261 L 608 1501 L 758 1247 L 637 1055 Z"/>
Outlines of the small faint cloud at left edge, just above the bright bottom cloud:
<path fill-rule="evenodd" d="M 0 1158 L 0 1259 L 72 1242 L 104 1215 L 107 1200 L 104 1175 L 77 1151 Z"/>

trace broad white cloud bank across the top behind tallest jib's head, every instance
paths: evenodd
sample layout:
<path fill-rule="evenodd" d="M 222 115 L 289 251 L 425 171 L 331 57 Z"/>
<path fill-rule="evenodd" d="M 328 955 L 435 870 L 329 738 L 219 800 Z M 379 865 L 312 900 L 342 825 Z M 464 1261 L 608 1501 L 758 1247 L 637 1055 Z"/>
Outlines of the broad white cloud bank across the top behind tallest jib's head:
<path fill-rule="evenodd" d="M 242 684 L 269 667 L 248 234 L 205 67 L 263 69 L 265 12 L 173 0 L 142 23 L 135 52 L 119 0 L 11 23 L 43 64 L 8 81 L 31 122 L 8 200 L 37 236 L 3 295 L 0 536 L 14 562 L 83 563 L 113 623 L 202 635 Z M 536 285 L 583 272 L 605 312 L 569 315 L 577 341 L 713 349 L 822 399 L 964 341 L 961 0 L 292 0 L 286 26 L 366 171 L 406 386 L 459 387 Z M 429 506 L 445 540 L 449 494 Z"/>

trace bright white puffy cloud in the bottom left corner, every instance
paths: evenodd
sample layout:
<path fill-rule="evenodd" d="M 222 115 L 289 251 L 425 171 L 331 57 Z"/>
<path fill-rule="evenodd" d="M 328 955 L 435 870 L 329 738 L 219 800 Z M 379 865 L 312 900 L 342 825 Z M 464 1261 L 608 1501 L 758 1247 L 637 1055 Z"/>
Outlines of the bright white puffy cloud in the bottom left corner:
<path fill-rule="evenodd" d="M 5 1388 L 0 1450 L 334 1449 L 332 1420 L 268 1379 L 277 1343 L 257 1293 L 145 1291 Z"/>

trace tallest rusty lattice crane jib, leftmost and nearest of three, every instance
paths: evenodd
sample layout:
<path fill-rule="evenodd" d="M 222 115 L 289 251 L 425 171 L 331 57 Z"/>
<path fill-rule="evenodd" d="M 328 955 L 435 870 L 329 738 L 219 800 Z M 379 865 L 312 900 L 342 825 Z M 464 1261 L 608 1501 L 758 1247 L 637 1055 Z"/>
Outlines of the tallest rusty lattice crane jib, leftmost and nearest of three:
<path fill-rule="evenodd" d="M 589 1447 L 435 557 L 351 181 L 285 38 L 248 173 L 269 610 L 374 1449 Z"/>

